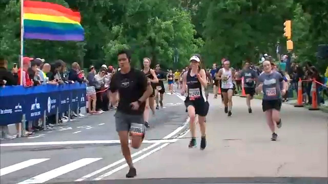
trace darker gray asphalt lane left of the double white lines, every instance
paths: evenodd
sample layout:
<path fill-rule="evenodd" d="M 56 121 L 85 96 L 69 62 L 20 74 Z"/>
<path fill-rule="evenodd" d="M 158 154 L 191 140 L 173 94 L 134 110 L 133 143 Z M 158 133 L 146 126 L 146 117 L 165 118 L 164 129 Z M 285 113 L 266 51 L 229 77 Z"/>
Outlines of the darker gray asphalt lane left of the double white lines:
<path fill-rule="evenodd" d="M 177 136 L 187 128 L 183 98 L 166 93 L 163 102 L 164 108 L 156 110 L 155 116 L 150 118 L 147 140 L 139 150 L 131 149 L 135 158 L 158 147 L 161 142 L 170 141 L 162 138 Z M 98 173 L 90 176 L 92 172 L 102 169 L 98 171 L 102 174 L 115 165 L 122 165 L 125 160 L 113 114 L 114 111 L 109 111 L 87 116 L 33 137 L 1 141 L 0 183 L 91 180 L 99 176 Z"/>

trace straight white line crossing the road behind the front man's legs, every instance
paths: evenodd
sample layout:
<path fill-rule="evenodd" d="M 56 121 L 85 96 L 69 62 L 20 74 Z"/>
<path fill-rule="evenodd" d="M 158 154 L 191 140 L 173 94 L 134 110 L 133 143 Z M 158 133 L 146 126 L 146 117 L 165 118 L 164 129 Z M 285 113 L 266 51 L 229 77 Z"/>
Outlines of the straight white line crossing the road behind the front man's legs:
<path fill-rule="evenodd" d="M 142 143 L 167 143 L 172 140 L 144 140 Z M 41 146 L 41 145 L 63 145 L 63 144 L 115 144 L 120 143 L 120 140 L 72 140 L 72 141 L 51 141 L 51 142 L 19 142 L 19 143 L 4 143 L 0 147 L 8 146 Z"/>

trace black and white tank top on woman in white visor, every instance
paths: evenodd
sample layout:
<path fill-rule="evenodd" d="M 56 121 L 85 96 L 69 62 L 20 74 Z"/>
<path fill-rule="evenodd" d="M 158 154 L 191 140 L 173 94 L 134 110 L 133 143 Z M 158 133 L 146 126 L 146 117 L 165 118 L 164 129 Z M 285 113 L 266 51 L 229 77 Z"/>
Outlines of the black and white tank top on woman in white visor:
<path fill-rule="evenodd" d="M 197 79 L 196 74 L 192 77 L 190 76 L 191 69 L 188 70 L 187 73 L 187 86 L 188 86 L 188 93 L 187 98 L 191 101 L 195 100 L 203 100 L 206 102 L 205 96 L 205 88 L 201 85 L 199 80 Z"/>

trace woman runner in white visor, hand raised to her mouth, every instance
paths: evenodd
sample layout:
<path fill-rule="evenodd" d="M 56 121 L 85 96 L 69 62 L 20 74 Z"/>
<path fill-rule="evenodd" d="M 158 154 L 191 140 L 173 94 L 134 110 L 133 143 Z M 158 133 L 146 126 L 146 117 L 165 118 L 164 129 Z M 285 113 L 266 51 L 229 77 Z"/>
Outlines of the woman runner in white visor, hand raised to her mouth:
<path fill-rule="evenodd" d="M 198 115 L 198 122 L 201 130 L 200 149 L 206 147 L 205 119 L 209 110 L 209 103 L 205 97 L 205 88 L 207 87 L 206 72 L 201 69 L 200 56 L 194 55 L 190 58 L 190 69 L 184 73 L 181 95 L 184 95 L 187 85 L 187 97 L 185 105 L 189 115 L 189 125 L 191 132 L 191 141 L 189 148 L 196 147 L 195 117 Z"/>

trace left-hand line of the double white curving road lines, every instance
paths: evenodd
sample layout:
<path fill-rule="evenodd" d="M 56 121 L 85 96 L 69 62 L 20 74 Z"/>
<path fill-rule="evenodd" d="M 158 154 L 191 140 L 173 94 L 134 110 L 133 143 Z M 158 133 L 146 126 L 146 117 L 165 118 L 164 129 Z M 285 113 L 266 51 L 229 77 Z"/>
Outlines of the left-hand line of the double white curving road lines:
<path fill-rule="evenodd" d="M 189 122 L 189 117 L 187 118 L 187 120 L 181 126 L 179 126 L 177 129 L 175 129 L 173 132 L 171 132 L 169 135 L 167 135 L 167 136 L 165 136 L 163 138 L 163 139 L 167 139 L 167 140 L 161 140 L 161 141 L 175 142 L 176 140 L 168 139 L 168 138 L 172 138 L 175 134 L 177 134 L 178 132 L 180 132 L 186 125 L 188 125 L 188 122 Z M 145 142 L 145 141 L 146 140 L 144 140 L 143 142 Z M 161 144 L 161 142 L 157 142 L 155 144 L 152 144 L 152 145 L 150 145 L 150 146 L 148 146 L 148 147 L 146 147 L 146 148 L 144 148 L 144 149 L 142 149 L 142 150 L 140 150 L 140 151 L 132 154 L 131 157 L 140 155 L 141 153 L 144 153 L 145 151 L 150 150 L 150 149 L 152 149 L 152 148 L 154 148 L 154 147 L 156 147 L 156 146 L 158 146 L 160 144 Z M 120 160 L 117 160 L 116 162 L 114 162 L 112 164 L 109 164 L 109 165 L 107 165 L 107 166 L 105 166 L 105 167 L 103 167 L 103 168 L 101 168 L 101 169 L 99 169 L 97 171 L 94 171 L 94 172 L 92 172 L 92 173 L 90 173 L 88 175 L 82 176 L 81 178 L 79 178 L 79 179 L 77 179 L 75 181 L 83 181 L 83 180 L 85 180 L 87 178 L 90 178 L 90 177 L 92 177 L 94 175 L 97 175 L 97 174 L 99 174 L 99 173 L 101 173 L 103 171 L 106 171 L 107 169 L 110 169 L 111 167 L 114 167 L 115 165 L 118 165 L 118 164 L 120 164 L 120 163 L 122 163 L 124 161 L 125 161 L 125 158 L 122 158 Z"/>

